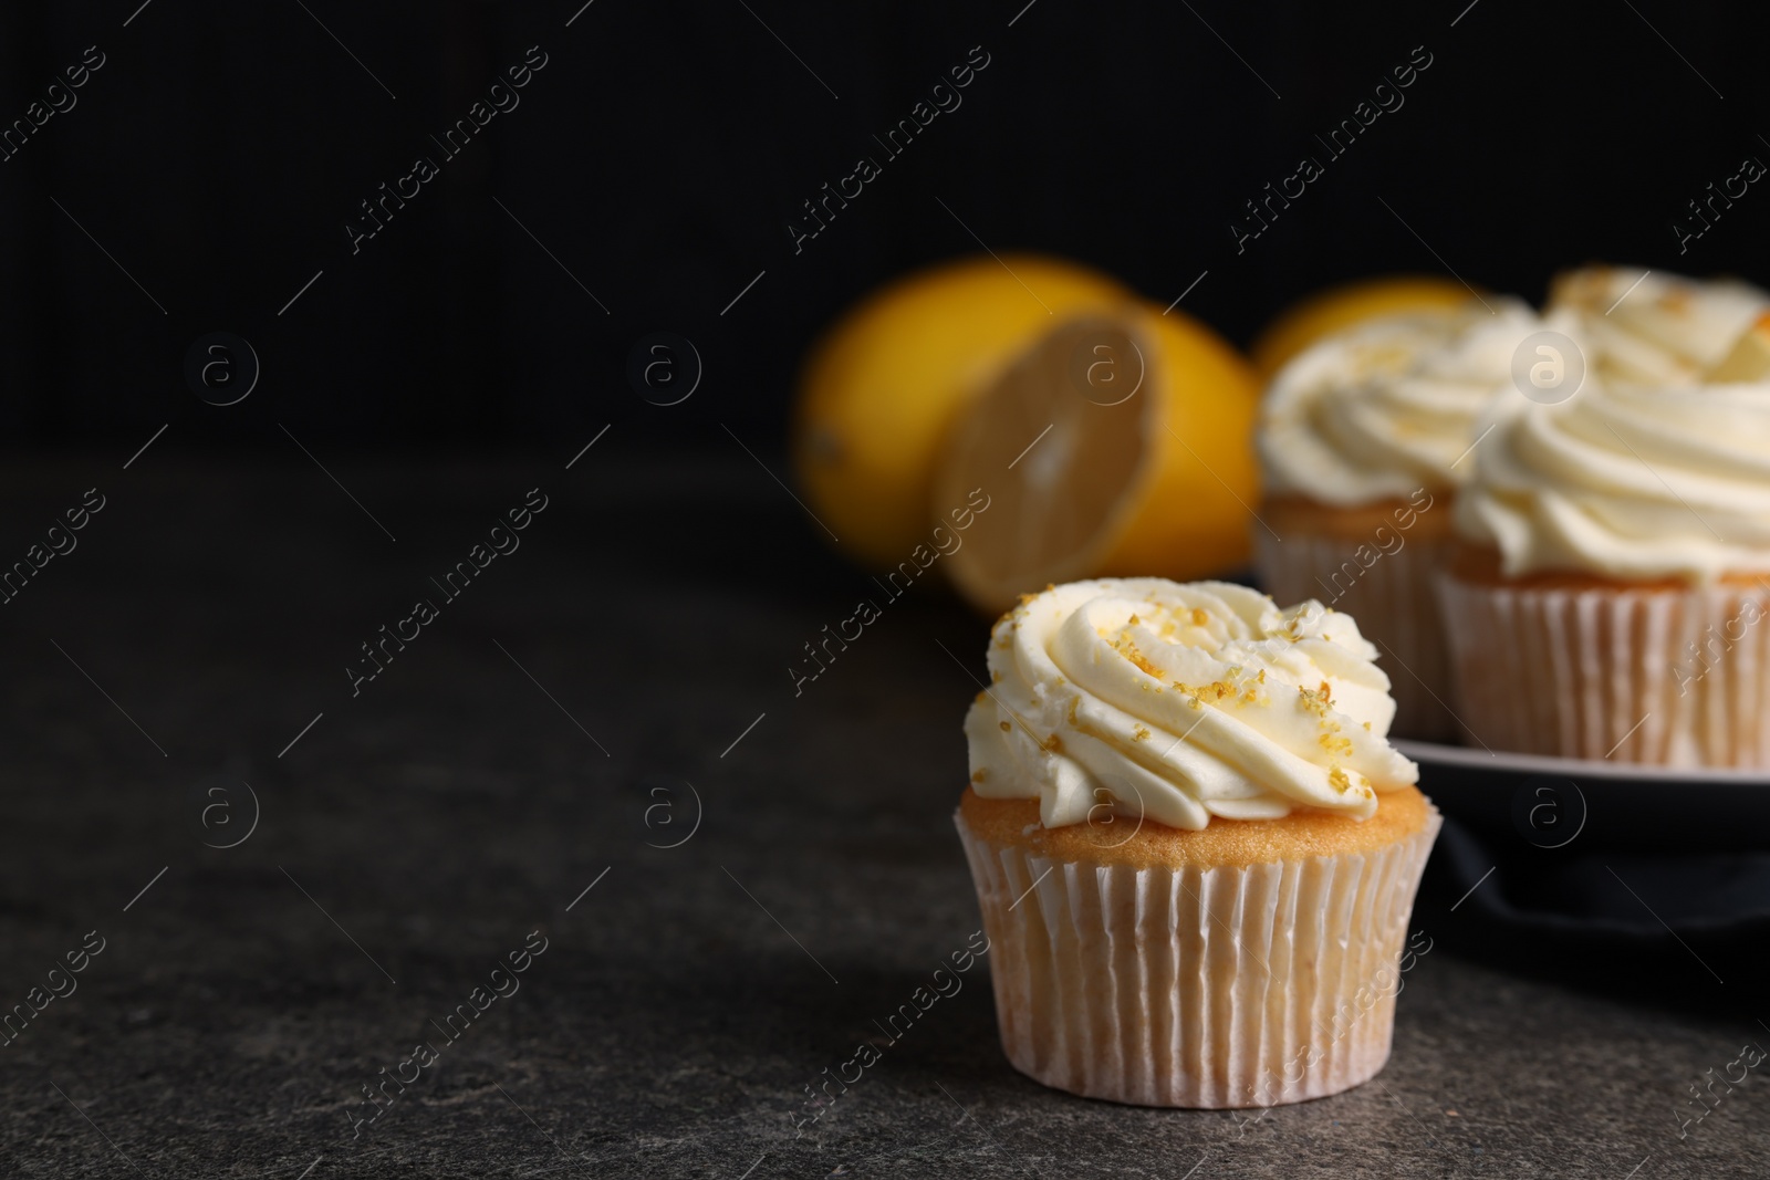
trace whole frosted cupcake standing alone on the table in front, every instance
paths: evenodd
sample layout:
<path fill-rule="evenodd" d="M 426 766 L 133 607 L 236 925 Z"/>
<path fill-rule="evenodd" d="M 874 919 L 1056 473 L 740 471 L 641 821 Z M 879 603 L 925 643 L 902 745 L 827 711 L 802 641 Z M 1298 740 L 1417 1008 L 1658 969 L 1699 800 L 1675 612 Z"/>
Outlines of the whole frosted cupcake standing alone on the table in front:
<path fill-rule="evenodd" d="M 1382 1069 L 1441 821 L 1375 655 L 1225 582 L 1071 582 L 997 623 L 956 823 L 1014 1069 L 1189 1107 Z"/>

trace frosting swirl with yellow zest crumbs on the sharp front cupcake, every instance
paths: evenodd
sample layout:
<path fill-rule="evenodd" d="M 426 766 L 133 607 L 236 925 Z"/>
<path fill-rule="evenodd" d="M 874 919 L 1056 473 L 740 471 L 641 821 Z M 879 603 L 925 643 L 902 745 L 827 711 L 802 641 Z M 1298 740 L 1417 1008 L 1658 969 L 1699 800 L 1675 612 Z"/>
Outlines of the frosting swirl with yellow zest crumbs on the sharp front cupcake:
<path fill-rule="evenodd" d="M 1418 780 L 1386 739 L 1377 649 L 1317 601 L 1228 582 L 1099 579 L 1030 594 L 991 632 L 965 716 L 972 787 L 1046 828 L 1110 807 L 1172 828 L 1322 808 L 1366 819 Z"/>

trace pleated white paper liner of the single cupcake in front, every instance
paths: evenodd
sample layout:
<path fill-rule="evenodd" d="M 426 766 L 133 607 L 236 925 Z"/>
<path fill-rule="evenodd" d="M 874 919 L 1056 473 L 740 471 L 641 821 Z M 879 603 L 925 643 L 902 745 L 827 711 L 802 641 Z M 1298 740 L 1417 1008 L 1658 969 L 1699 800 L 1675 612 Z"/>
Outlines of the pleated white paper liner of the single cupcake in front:
<path fill-rule="evenodd" d="M 1370 853 L 1184 870 L 1057 863 L 956 821 L 1002 1047 L 1028 1077 L 1221 1109 L 1338 1093 L 1388 1061 L 1437 808 Z"/>

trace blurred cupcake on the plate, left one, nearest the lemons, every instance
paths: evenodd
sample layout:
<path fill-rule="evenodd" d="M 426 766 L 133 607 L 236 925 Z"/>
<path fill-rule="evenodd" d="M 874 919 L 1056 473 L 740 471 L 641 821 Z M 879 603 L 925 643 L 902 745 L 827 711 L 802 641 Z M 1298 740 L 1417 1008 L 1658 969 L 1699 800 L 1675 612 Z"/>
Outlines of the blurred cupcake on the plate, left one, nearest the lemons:
<path fill-rule="evenodd" d="M 1294 357 L 1262 405 L 1260 580 L 1280 601 L 1319 598 L 1363 621 L 1407 738 L 1457 729 L 1432 573 L 1473 469 L 1473 425 L 1540 327 L 1497 297 L 1379 317 Z"/>

